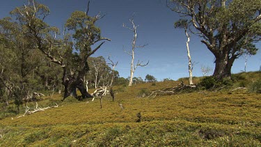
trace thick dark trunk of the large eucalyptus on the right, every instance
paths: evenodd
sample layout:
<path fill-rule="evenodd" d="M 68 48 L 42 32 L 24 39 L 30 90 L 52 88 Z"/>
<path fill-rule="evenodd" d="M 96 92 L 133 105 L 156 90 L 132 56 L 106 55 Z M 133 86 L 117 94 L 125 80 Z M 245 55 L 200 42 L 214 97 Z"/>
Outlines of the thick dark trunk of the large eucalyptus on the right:
<path fill-rule="evenodd" d="M 235 58 L 229 58 L 228 54 L 219 54 L 216 56 L 216 66 L 213 76 L 221 80 L 223 78 L 231 78 L 231 68 Z"/>

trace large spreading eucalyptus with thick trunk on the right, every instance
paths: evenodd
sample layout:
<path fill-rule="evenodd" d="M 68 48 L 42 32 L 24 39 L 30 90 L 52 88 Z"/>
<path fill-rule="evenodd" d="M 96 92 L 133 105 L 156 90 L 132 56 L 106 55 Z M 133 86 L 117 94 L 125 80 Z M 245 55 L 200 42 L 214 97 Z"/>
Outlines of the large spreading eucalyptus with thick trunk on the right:
<path fill-rule="evenodd" d="M 194 31 L 215 56 L 213 76 L 231 77 L 242 54 L 256 54 L 261 34 L 260 0 L 167 0 L 168 7 L 192 22 Z"/>

